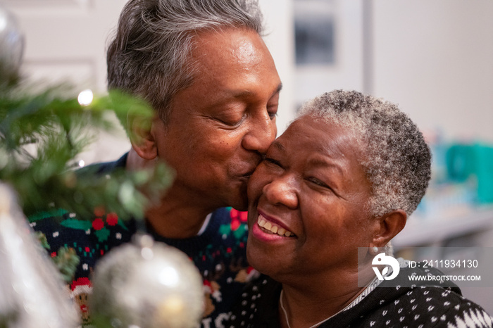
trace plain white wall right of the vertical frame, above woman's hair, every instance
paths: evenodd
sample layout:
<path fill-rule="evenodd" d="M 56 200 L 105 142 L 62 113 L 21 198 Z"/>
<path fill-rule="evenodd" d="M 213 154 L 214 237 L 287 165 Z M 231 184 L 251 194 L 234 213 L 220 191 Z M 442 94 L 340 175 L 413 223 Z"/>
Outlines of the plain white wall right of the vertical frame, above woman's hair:
<path fill-rule="evenodd" d="M 493 141 L 493 1 L 373 1 L 373 85 L 423 130 Z"/>

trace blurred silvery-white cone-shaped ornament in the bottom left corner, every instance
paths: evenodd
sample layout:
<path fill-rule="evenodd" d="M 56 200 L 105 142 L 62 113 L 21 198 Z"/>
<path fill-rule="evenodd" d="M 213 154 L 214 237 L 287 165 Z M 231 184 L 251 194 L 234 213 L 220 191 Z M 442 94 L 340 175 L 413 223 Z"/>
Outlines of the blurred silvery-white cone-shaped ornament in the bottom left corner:
<path fill-rule="evenodd" d="M 77 326 L 60 272 L 35 239 L 11 188 L 0 183 L 0 327 Z"/>

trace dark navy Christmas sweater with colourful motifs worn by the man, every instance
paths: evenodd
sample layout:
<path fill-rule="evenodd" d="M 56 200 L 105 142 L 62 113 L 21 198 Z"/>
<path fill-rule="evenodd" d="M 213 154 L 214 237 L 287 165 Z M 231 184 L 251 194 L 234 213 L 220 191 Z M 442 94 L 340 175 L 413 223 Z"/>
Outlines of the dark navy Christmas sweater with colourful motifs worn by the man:
<path fill-rule="evenodd" d="M 123 156 L 116 162 L 100 164 L 98 173 L 110 174 L 114 168 L 125 165 L 125 161 Z M 46 237 L 44 246 L 54 260 L 78 258 L 68 287 L 80 310 L 82 326 L 90 327 L 88 297 L 96 263 L 112 248 L 130 242 L 137 232 L 137 222 L 120 220 L 115 213 L 101 209 L 94 210 L 94 217 L 89 219 L 60 209 L 37 213 L 29 219 L 31 227 Z M 258 275 L 246 262 L 247 229 L 246 212 L 220 208 L 211 214 L 205 230 L 192 238 L 168 239 L 152 229 L 147 231 L 156 241 L 185 252 L 201 272 L 205 304 L 201 327 L 224 327 L 223 322 L 229 317 L 232 304 L 241 297 L 245 283 Z"/>

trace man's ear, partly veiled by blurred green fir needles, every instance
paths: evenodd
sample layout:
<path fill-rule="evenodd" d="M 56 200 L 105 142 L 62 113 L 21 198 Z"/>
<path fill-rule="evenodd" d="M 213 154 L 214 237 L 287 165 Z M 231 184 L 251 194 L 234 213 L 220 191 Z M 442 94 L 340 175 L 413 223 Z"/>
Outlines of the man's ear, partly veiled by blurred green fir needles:
<path fill-rule="evenodd" d="M 152 129 L 155 120 L 156 117 L 130 114 L 127 116 L 127 127 L 132 148 L 145 160 L 154 160 L 158 156 L 156 139 Z"/>

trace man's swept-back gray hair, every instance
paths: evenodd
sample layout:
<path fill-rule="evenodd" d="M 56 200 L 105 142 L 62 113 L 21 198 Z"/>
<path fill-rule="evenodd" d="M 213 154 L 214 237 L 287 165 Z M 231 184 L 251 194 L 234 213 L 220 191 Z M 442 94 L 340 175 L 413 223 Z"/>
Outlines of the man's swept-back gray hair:
<path fill-rule="evenodd" d="M 108 47 L 108 89 L 148 101 L 165 122 L 170 101 L 194 79 L 198 32 L 228 27 L 263 32 L 256 0 L 130 0 Z"/>

